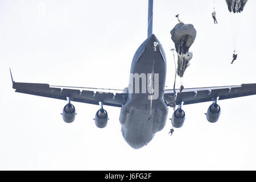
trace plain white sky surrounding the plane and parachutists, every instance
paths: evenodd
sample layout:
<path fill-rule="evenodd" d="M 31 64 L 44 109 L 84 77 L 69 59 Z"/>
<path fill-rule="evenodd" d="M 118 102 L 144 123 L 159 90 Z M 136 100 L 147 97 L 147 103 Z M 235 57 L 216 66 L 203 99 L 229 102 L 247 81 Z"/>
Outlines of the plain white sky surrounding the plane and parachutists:
<path fill-rule="evenodd" d="M 147 3 L 0 0 L 1 170 L 256 169 L 256 96 L 219 101 L 217 123 L 205 117 L 210 102 L 185 105 L 181 129 L 170 137 L 168 119 L 147 146 L 134 150 L 122 137 L 120 108 L 105 106 L 110 120 L 98 129 L 93 118 L 99 106 L 73 102 L 78 114 L 68 124 L 60 115 L 66 101 L 11 88 L 9 68 L 17 82 L 125 88 L 133 55 L 147 37 Z M 168 88 L 174 81 L 170 30 L 176 14 L 197 31 L 185 88 L 255 83 L 255 7 L 249 0 L 234 18 L 224 0 L 155 0 L 153 32 L 166 51 Z M 241 19 L 234 64 L 230 18 Z"/>

